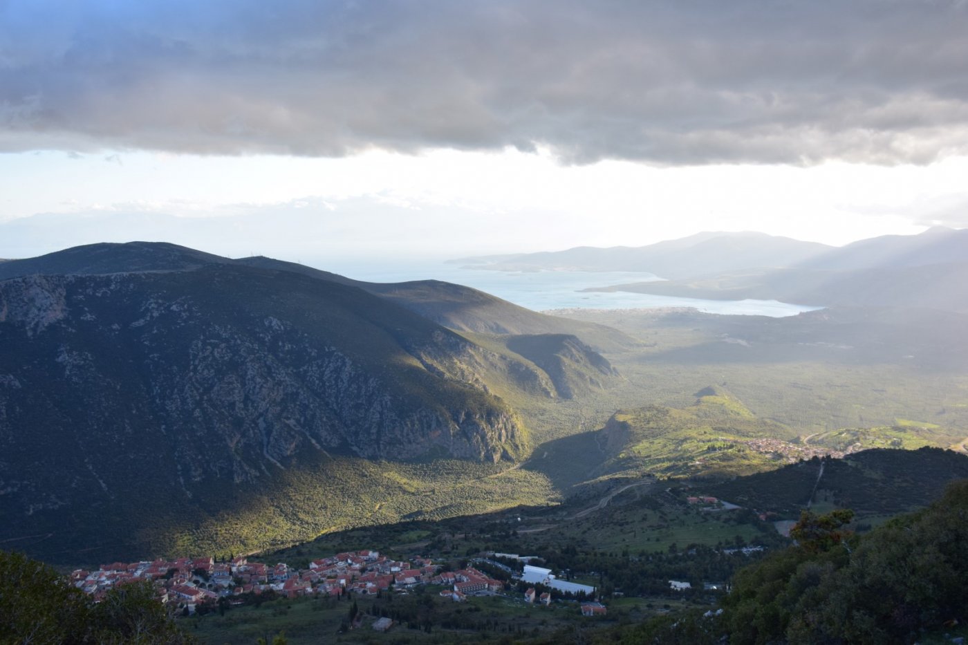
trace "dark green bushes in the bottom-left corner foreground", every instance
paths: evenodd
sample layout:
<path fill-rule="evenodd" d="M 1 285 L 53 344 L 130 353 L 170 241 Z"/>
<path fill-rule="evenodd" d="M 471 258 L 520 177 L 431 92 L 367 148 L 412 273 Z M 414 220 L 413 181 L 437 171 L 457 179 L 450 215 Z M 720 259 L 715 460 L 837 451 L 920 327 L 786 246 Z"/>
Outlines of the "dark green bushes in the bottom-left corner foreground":
<path fill-rule="evenodd" d="M 0 645 L 176 645 L 178 630 L 148 583 L 127 584 L 95 604 L 52 568 L 0 551 Z"/>

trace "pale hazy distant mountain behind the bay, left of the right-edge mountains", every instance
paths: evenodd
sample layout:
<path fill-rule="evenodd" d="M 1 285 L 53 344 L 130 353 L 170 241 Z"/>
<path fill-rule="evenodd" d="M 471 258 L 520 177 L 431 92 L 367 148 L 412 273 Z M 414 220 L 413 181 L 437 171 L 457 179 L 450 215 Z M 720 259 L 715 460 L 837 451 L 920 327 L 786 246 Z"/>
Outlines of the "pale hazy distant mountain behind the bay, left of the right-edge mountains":
<path fill-rule="evenodd" d="M 642 247 L 578 247 L 566 251 L 468 258 L 461 263 L 501 271 L 638 271 L 668 279 L 808 261 L 832 247 L 759 232 L 702 232 Z"/>

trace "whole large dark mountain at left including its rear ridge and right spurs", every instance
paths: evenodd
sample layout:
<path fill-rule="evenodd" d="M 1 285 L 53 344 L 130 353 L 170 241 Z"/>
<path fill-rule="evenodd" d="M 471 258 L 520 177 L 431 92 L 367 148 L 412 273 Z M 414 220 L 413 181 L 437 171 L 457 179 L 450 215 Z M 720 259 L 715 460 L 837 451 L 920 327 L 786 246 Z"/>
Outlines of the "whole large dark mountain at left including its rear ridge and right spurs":
<path fill-rule="evenodd" d="M 435 318 L 528 333 L 484 347 Z M 0 539 L 70 526 L 81 507 L 134 538 L 147 527 L 118 524 L 122 508 L 184 512 L 226 483 L 278 492 L 319 458 L 511 464 L 529 434 L 495 391 L 571 398 L 616 377 L 568 330 L 446 283 L 164 243 L 2 262 Z"/>

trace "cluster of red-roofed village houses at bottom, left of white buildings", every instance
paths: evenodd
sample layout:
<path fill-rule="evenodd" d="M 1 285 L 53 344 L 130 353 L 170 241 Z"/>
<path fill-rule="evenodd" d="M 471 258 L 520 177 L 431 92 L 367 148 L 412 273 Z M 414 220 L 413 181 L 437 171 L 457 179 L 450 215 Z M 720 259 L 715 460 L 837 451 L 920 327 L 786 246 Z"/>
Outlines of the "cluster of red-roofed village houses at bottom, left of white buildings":
<path fill-rule="evenodd" d="M 496 593 L 504 588 L 503 582 L 473 567 L 456 571 L 441 571 L 440 568 L 426 558 L 401 562 L 382 556 L 377 551 L 362 550 L 315 560 L 307 569 L 289 568 L 282 563 L 271 567 L 249 562 L 246 558 L 235 558 L 225 563 L 217 563 L 212 558 L 179 558 L 130 564 L 118 562 L 102 565 L 96 571 L 77 569 L 71 574 L 71 581 L 84 593 L 101 599 L 114 586 L 147 580 L 154 583 L 162 602 L 178 603 L 190 611 L 206 601 L 217 602 L 221 598 L 261 594 L 267 590 L 287 598 L 296 598 L 308 595 L 342 596 L 348 593 L 378 594 L 388 590 L 391 585 L 400 590 L 420 584 L 440 584 L 449 588 L 440 592 L 441 597 L 463 601 L 469 594 Z M 541 571 L 544 573 L 543 581 L 547 582 L 550 569 Z M 534 589 L 530 588 L 525 599 L 534 602 L 534 594 Z M 537 601 L 550 604 L 551 596 L 541 594 Z M 605 613 L 605 607 L 598 603 L 586 604 L 582 605 L 583 614 Z"/>

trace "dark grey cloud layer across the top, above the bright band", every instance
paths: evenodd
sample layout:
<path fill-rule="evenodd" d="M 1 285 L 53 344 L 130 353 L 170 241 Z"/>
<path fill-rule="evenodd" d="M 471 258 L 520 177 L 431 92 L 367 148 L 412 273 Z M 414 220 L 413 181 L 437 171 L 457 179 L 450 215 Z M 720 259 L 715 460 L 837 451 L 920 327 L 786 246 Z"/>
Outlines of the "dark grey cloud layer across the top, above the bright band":
<path fill-rule="evenodd" d="M 566 163 L 968 152 L 941 0 L 0 0 L 0 147 Z"/>

